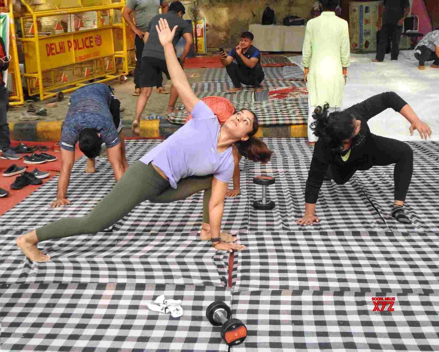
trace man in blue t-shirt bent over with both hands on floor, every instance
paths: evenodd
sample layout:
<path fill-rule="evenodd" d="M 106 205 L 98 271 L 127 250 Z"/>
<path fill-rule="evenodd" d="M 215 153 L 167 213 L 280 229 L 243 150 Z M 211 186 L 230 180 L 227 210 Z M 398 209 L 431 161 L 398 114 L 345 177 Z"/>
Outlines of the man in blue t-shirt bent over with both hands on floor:
<path fill-rule="evenodd" d="M 61 132 L 61 173 L 57 199 L 50 205 L 56 208 L 70 204 L 67 187 L 75 162 L 75 144 L 88 157 L 86 173 L 96 172 L 94 158 L 107 146 L 108 161 L 116 181 L 128 169 L 120 119 L 120 101 L 104 83 L 85 85 L 70 98 L 70 106 Z"/>

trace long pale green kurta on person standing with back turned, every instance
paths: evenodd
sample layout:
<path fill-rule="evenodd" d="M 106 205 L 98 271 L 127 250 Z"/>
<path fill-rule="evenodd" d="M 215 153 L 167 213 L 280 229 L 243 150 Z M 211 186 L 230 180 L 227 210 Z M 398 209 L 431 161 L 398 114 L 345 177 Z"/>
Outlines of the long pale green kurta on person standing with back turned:
<path fill-rule="evenodd" d="M 311 106 L 341 107 L 345 89 L 342 67 L 349 66 L 348 22 L 324 11 L 306 24 L 301 64 L 309 68 L 307 77 Z"/>

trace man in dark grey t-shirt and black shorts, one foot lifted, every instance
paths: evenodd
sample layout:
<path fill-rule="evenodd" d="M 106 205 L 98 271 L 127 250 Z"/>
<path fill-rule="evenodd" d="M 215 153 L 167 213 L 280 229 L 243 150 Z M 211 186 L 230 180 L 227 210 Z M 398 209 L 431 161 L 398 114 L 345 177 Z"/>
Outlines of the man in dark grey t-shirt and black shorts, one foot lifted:
<path fill-rule="evenodd" d="M 149 96 L 152 92 L 152 87 L 154 87 L 157 80 L 157 76 L 162 75 L 163 72 L 168 79 L 171 79 L 166 66 L 163 46 L 158 40 L 158 32 L 155 26 L 158 25 L 160 18 L 165 18 L 171 28 L 174 26 L 177 27 L 174 39 L 172 41 L 174 48 L 182 36 L 186 40 L 183 54 L 179 60 L 181 67 L 183 67 L 184 60 L 186 60 L 186 56 L 189 53 L 192 44 L 194 43 L 194 39 L 192 38 L 192 25 L 182 18 L 185 12 L 186 10 L 184 9 L 183 4 L 179 1 L 174 1 L 169 5 L 169 12 L 167 14 L 155 15 L 153 18 L 151 18 L 151 21 L 149 21 L 148 28 L 143 36 L 145 46 L 143 49 L 142 63 L 140 66 L 140 96 L 137 99 L 136 116 L 131 127 L 134 135 L 138 136 L 140 134 L 140 115 L 143 113 L 146 103 L 148 102 Z M 171 94 L 169 95 L 167 109 L 168 114 L 173 112 L 177 99 L 177 90 L 171 85 Z"/>

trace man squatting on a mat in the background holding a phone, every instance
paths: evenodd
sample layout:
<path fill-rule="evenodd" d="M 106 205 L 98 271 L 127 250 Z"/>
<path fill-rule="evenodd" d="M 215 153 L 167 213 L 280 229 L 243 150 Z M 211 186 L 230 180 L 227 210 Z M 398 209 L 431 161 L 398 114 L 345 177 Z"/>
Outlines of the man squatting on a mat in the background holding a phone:
<path fill-rule="evenodd" d="M 224 51 L 219 54 L 221 64 L 226 67 L 227 74 L 233 82 L 234 88 L 228 90 L 230 93 L 242 90 L 241 83 L 254 87 L 261 86 L 265 75 L 260 63 L 261 52 L 252 44 L 253 34 L 243 32 L 239 45 L 230 50 L 229 55 Z"/>

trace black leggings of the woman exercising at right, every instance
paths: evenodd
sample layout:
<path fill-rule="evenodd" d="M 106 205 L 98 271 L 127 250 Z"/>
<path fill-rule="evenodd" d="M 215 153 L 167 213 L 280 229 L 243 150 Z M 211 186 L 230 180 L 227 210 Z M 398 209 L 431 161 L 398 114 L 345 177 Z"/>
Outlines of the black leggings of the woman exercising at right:
<path fill-rule="evenodd" d="M 368 146 L 367 164 L 358 167 L 331 164 L 331 178 L 335 183 L 343 185 L 357 170 L 369 170 L 373 166 L 395 164 L 393 170 L 395 200 L 404 202 L 413 174 L 413 150 L 407 143 L 377 135 L 373 136 L 373 141 L 369 142 Z"/>

